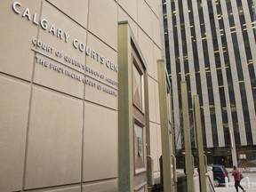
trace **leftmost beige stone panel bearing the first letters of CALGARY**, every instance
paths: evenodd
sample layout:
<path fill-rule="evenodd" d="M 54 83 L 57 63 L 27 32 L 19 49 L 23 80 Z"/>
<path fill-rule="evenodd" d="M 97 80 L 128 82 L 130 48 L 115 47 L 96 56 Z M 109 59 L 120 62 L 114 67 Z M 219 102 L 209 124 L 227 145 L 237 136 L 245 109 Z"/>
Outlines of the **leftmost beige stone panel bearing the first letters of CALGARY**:
<path fill-rule="evenodd" d="M 30 81 L 34 60 L 31 40 L 36 37 L 38 31 L 32 20 L 35 12 L 37 17 L 39 15 L 41 1 L 20 0 L 21 6 L 16 6 L 19 14 L 13 11 L 13 2 L 1 1 L 0 71 Z M 26 8 L 29 9 L 30 20 L 28 17 L 22 17 Z"/>

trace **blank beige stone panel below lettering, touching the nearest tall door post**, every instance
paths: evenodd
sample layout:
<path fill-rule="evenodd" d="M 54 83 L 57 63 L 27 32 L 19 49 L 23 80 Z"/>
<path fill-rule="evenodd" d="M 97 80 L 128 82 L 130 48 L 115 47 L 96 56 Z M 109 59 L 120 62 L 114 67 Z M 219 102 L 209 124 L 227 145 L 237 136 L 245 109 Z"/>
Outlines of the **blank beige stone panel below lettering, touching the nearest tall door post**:
<path fill-rule="evenodd" d="M 117 177 L 117 112 L 91 103 L 84 107 L 83 181 Z"/>

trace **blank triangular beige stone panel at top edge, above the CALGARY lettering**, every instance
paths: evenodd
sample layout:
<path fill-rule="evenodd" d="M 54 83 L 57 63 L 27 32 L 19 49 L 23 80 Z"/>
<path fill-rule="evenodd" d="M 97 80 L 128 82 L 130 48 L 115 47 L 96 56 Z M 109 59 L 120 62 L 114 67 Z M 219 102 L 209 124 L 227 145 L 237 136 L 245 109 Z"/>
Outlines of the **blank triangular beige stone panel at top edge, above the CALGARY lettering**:
<path fill-rule="evenodd" d="M 73 20 L 87 28 L 88 0 L 48 0 Z"/>

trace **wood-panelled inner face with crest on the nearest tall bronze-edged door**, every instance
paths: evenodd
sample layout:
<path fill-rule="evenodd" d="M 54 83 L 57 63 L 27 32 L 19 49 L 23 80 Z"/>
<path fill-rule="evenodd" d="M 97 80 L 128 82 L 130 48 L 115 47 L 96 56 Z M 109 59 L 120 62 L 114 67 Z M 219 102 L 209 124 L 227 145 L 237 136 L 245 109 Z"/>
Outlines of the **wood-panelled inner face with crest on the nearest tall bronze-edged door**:
<path fill-rule="evenodd" d="M 146 191 L 146 126 L 144 100 L 144 68 L 132 46 L 132 113 L 134 146 L 134 190 Z"/>

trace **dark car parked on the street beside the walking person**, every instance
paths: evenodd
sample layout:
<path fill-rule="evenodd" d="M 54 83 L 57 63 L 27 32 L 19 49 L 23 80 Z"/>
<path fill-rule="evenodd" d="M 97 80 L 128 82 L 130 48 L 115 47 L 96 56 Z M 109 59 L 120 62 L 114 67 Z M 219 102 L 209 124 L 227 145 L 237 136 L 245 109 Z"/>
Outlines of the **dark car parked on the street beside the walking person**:
<path fill-rule="evenodd" d="M 213 184 L 214 187 L 219 187 L 220 185 L 225 185 L 225 177 L 228 178 L 228 171 L 225 166 L 220 164 L 212 164 L 212 172 L 213 172 Z"/>

